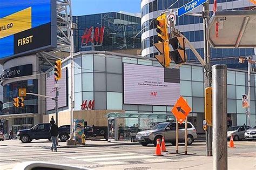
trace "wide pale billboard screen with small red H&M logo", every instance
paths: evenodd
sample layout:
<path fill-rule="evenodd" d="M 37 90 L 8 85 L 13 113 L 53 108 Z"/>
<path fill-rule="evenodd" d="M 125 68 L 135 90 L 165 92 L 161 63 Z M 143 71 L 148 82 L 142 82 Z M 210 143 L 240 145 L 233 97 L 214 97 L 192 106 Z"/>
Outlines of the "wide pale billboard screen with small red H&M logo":
<path fill-rule="evenodd" d="M 180 96 L 179 69 L 124 63 L 124 104 L 172 106 Z"/>

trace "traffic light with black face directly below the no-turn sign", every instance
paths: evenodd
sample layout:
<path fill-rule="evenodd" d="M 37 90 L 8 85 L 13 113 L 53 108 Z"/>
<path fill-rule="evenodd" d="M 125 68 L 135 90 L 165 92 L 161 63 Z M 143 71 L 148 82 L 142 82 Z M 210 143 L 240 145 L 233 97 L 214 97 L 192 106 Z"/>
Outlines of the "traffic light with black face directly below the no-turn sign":
<path fill-rule="evenodd" d="M 176 64 L 185 63 L 187 60 L 185 51 L 185 38 L 176 36 L 171 38 L 169 42 L 173 48 L 173 51 L 170 52 L 171 59 Z"/>

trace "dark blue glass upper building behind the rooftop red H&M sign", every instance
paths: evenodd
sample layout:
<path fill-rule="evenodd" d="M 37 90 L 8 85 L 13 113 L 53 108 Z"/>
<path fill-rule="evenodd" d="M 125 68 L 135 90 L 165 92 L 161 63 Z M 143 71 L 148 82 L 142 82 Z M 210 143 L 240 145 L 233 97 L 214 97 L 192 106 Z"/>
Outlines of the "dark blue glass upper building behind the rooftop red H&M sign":
<path fill-rule="evenodd" d="M 119 12 L 73 17 L 73 21 L 78 25 L 78 30 L 75 31 L 75 51 L 92 50 L 90 42 L 87 46 L 81 47 L 81 37 L 85 30 L 90 29 L 91 26 L 93 28 L 105 27 L 102 46 L 94 47 L 97 51 L 141 49 L 141 35 L 137 35 L 141 30 L 140 19 L 140 17 Z"/>

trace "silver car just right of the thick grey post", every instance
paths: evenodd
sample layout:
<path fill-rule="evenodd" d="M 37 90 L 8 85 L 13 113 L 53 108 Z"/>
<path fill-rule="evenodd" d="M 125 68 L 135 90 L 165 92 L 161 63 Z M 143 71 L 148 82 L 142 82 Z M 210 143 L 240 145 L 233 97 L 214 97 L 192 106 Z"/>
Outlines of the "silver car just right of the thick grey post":
<path fill-rule="evenodd" d="M 233 135 L 233 140 L 238 141 L 244 139 L 245 131 L 250 129 L 250 126 L 231 126 L 227 130 L 227 139 L 230 140 L 231 135 Z"/>

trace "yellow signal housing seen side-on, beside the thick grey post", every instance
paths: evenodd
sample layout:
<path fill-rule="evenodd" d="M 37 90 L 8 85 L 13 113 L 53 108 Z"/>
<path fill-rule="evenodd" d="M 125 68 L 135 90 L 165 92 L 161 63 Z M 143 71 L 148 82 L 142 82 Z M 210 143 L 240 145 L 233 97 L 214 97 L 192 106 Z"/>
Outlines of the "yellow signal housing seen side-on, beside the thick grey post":
<path fill-rule="evenodd" d="M 205 88 L 205 120 L 212 126 L 212 87 Z"/>

